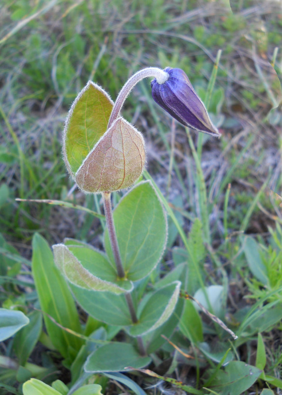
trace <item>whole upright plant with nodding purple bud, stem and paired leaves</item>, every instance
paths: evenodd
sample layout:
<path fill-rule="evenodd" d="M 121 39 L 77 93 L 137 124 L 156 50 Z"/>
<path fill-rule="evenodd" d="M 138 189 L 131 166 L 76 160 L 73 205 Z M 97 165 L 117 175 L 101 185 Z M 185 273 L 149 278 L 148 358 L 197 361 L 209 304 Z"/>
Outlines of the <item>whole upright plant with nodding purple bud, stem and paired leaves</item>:
<path fill-rule="evenodd" d="M 164 341 L 162 333 L 170 336 L 183 306 L 178 295 L 180 278 L 185 274 L 164 277 L 148 290 L 139 286 L 140 280 L 148 278 L 161 260 L 167 239 L 166 215 L 152 183 L 142 181 L 135 185 L 122 197 L 114 214 L 112 211 L 111 193 L 132 186 L 144 169 L 143 137 L 120 114 L 131 89 L 144 78 L 154 79 L 153 99 L 173 118 L 219 136 L 180 69 L 152 67 L 137 72 L 122 87 L 115 103 L 99 85 L 89 81 L 71 107 L 63 134 L 64 160 L 81 191 L 102 194 L 107 223 L 105 252 L 79 240 L 66 239 L 64 244 L 53 246 L 55 263 L 90 316 L 108 325 L 119 325 L 137 339 L 139 355 L 125 344 L 124 354 L 129 359 L 122 359 L 122 366 L 117 360 L 116 371 L 126 365 L 139 368 L 148 364 L 151 359 L 146 355 L 156 350 L 156 344 L 160 347 Z M 174 310 L 177 313 L 172 315 Z M 164 332 L 156 332 L 167 320 L 169 325 Z M 105 355 L 117 352 L 117 346 L 111 343 L 97 350 L 100 355 L 103 347 Z M 122 347 L 119 346 L 121 354 Z M 95 353 L 90 355 L 86 371 L 109 371 L 107 361 L 104 368 L 97 368 L 99 360 Z"/>

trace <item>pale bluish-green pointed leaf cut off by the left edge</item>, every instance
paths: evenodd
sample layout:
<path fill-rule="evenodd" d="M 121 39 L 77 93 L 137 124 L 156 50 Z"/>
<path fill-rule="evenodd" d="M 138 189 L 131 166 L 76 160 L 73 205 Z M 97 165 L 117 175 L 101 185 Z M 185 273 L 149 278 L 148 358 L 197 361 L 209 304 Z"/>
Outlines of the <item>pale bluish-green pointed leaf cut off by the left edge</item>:
<path fill-rule="evenodd" d="M 0 309 L 0 342 L 13 336 L 28 323 L 28 317 L 20 311 Z"/>

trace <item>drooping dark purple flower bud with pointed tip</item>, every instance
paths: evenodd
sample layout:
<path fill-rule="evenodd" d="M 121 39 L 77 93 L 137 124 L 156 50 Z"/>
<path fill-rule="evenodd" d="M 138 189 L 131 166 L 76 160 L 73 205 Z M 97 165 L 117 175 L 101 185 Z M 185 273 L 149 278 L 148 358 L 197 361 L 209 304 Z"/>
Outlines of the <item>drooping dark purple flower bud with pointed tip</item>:
<path fill-rule="evenodd" d="M 219 131 L 209 119 L 184 71 L 171 67 L 166 67 L 164 71 L 169 75 L 164 83 L 160 84 L 156 79 L 151 82 L 155 102 L 182 125 L 219 137 Z"/>

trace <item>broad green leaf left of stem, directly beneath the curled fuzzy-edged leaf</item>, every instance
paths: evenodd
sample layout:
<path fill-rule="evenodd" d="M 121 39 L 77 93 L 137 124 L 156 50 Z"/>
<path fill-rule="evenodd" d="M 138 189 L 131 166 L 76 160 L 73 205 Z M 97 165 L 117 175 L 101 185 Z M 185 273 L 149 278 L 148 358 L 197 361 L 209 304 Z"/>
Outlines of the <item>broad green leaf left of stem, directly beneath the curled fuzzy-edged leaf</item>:
<path fill-rule="evenodd" d="M 82 309 L 90 316 L 110 325 L 126 326 L 132 323 L 124 295 L 88 291 L 73 284 L 70 288 Z"/>

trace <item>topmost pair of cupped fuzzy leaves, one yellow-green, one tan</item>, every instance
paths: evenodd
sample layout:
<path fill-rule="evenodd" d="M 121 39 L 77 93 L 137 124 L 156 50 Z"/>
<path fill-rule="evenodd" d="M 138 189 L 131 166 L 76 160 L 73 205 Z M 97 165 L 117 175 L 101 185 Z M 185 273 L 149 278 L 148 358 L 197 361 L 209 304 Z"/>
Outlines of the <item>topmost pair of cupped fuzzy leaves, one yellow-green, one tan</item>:
<path fill-rule="evenodd" d="M 145 164 L 141 133 L 123 118 L 108 128 L 113 101 L 89 81 L 73 103 L 63 134 L 67 168 L 83 192 L 130 187 Z"/>

